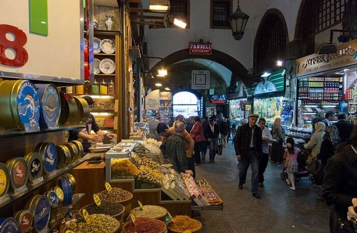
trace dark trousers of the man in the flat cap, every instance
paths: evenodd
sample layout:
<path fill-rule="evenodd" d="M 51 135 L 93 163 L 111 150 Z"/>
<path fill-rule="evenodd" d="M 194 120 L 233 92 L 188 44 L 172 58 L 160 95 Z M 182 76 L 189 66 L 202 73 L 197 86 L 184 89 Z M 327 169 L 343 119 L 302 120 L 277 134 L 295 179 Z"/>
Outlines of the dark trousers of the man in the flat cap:
<path fill-rule="evenodd" d="M 251 166 L 251 192 L 258 193 L 258 173 L 259 173 L 259 157 L 254 149 L 249 149 L 249 153 L 243 161 L 239 163 L 239 184 L 244 185 L 247 177 L 247 171 Z"/>

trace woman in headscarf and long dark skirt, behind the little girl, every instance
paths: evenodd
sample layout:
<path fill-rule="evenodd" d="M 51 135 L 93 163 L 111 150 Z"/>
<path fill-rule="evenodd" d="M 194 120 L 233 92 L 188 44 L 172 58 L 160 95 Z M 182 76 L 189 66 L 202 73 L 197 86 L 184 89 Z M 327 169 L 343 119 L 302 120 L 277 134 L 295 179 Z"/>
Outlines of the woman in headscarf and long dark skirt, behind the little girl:
<path fill-rule="evenodd" d="M 272 143 L 271 148 L 271 161 L 275 163 L 282 163 L 283 162 L 283 143 L 285 142 L 285 131 L 282 126 L 282 119 L 276 118 L 274 121 L 274 125 L 271 129 L 271 133 L 273 139 L 276 142 Z"/>

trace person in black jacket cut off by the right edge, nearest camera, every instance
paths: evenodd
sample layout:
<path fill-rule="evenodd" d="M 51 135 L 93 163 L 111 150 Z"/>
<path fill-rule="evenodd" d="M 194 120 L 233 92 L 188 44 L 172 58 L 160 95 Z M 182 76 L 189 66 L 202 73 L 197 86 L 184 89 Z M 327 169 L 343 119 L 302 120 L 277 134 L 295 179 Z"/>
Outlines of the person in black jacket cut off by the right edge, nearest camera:
<path fill-rule="evenodd" d="M 357 197 L 357 128 L 353 128 L 351 145 L 328 160 L 323 180 L 322 196 L 327 204 L 333 204 L 330 213 L 330 232 L 339 231 L 340 221 L 348 227 L 347 209 L 352 198 Z"/>

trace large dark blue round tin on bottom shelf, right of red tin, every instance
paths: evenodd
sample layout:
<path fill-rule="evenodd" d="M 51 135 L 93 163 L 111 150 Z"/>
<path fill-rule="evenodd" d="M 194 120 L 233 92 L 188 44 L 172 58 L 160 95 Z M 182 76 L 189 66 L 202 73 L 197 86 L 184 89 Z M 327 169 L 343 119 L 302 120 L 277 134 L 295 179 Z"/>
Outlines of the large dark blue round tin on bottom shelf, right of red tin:
<path fill-rule="evenodd" d="M 36 195 L 27 204 L 27 208 L 34 216 L 33 227 L 35 232 L 41 232 L 46 228 L 51 213 L 51 206 L 45 195 Z"/>

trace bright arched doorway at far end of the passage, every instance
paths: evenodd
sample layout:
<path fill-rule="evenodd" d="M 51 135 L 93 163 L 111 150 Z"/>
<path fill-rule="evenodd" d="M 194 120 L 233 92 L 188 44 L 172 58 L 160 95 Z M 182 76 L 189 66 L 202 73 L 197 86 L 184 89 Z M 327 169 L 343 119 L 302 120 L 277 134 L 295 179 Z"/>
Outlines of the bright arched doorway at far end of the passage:
<path fill-rule="evenodd" d="M 182 114 L 185 118 L 198 116 L 199 100 L 197 96 L 188 91 L 177 92 L 172 97 L 173 117 Z"/>

